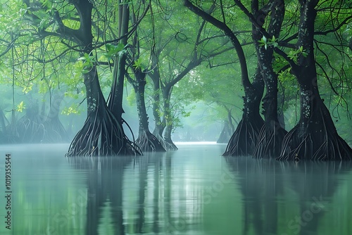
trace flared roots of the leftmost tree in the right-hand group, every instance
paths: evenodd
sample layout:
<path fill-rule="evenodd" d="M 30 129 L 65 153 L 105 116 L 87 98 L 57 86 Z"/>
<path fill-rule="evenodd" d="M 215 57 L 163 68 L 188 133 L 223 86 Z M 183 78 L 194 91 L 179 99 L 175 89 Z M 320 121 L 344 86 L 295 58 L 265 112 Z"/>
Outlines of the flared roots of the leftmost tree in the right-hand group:
<path fill-rule="evenodd" d="M 222 155 L 252 155 L 258 143 L 258 135 L 262 126 L 263 120 L 249 121 L 242 118 Z"/>

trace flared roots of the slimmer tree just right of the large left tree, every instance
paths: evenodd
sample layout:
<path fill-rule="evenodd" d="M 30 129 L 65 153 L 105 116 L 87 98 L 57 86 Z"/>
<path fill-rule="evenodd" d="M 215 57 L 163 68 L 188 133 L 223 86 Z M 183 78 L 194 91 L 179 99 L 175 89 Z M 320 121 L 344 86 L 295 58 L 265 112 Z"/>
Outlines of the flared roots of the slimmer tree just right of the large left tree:
<path fill-rule="evenodd" d="M 139 132 L 136 144 L 143 152 L 165 152 L 161 142 L 149 131 Z"/>

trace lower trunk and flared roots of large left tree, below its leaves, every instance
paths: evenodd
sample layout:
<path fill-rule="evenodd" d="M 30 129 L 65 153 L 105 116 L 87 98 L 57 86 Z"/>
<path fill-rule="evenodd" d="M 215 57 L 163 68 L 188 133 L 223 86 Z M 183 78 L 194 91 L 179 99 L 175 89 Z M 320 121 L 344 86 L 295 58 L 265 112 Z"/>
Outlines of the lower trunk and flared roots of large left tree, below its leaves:
<path fill-rule="evenodd" d="M 120 122 L 108 110 L 95 65 L 83 77 L 87 92 L 87 120 L 76 134 L 66 155 L 141 154 L 125 136 Z"/>

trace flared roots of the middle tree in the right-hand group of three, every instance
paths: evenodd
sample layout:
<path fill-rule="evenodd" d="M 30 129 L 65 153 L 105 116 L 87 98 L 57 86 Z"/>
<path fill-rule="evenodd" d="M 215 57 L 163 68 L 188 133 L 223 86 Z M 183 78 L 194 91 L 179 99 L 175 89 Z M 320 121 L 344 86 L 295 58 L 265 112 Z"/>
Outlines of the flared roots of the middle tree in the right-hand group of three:
<path fill-rule="evenodd" d="M 277 158 L 286 134 L 287 131 L 278 122 L 271 126 L 263 125 L 258 136 L 258 144 L 253 152 L 253 158 Z"/>

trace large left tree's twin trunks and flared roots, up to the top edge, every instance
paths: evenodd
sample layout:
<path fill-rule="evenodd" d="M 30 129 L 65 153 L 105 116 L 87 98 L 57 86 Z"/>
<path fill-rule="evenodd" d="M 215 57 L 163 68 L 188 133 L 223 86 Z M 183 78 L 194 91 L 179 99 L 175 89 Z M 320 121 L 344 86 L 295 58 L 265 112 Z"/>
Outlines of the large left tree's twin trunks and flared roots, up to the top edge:
<path fill-rule="evenodd" d="M 80 15 L 80 29 L 79 34 L 76 34 L 82 43 L 84 48 L 83 53 L 90 54 L 92 52 L 92 8 L 93 5 L 88 0 L 75 1 L 73 3 L 77 8 Z M 120 4 L 121 8 L 128 8 L 128 4 Z M 128 12 L 127 12 L 128 13 Z M 128 15 L 128 14 L 127 14 Z M 120 14 L 119 14 L 120 16 Z M 127 17 L 128 20 L 128 17 Z M 128 21 L 127 21 L 128 22 Z M 121 21 L 119 21 L 121 23 Z M 125 25 L 123 25 L 125 26 Z M 124 29 L 125 27 L 119 27 L 119 29 Z M 118 72 L 117 66 L 122 66 L 120 63 L 116 63 L 116 70 L 114 68 L 113 80 L 116 81 L 116 72 Z M 125 68 L 123 66 L 123 68 Z M 138 147 L 134 145 L 127 136 L 122 128 L 122 91 L 116 87 L 121 87 L 122 84 L 113 86 L 113 91 L 117 95 L 111 96 L 111 102 L 109 103 L 113 108 L 115 103 L 116 106 L 120 107 L 113 108 L 113 112 L 109 110 L 106 105 L 106 101 L 101 92 L 101 87 L 99 84 L 99 77 L 96 70 L 96 65 L 91 64 L 89 67 L 89 72 L 83 73 L 84 85 L 86 88 L 87 95 L 87 120 L 84 122 L 82 129 L 73 138 L 72 143 L 68 149 L 67 156 L 75 155 L 136 155 L 142 154 L 138 150 Z M 120 70 L 119 70 L 120 71 Z M 123 82 L 123 70 L 122 72 L 122 82 Z M 120 105 L 121 104 L 121 105 Z"/>

